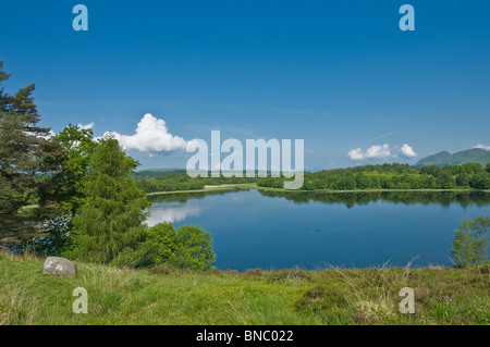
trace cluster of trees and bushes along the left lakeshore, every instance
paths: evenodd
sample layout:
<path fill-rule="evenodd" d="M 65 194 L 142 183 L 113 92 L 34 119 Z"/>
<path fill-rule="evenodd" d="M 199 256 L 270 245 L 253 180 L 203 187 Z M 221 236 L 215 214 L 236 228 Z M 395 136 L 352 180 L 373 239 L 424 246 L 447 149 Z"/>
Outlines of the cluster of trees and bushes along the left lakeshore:
<path fill-rule="evenodd" d="M 111 267 L 212 267 L 209 232 L 145 223 L 151 202 L 133 177 L 139 164 L 115 138 L 39 127 L 35 86 L 10 95 L 9 77 L 0 61 L 0 249 Z"/>

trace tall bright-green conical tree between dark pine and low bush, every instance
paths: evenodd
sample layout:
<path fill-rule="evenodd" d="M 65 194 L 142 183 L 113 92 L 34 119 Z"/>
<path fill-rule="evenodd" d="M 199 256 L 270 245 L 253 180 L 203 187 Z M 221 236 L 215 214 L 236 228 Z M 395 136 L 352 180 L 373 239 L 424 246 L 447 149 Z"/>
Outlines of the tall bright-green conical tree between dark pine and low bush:
<path fill-rule="evenodd" d="M 133 178 L 137 165 L 117 139 L 96 146 L 83 184 L 85 202 L 73 219 L 72 257 L 118 264 L 144 240 L 150 203 Z"/>

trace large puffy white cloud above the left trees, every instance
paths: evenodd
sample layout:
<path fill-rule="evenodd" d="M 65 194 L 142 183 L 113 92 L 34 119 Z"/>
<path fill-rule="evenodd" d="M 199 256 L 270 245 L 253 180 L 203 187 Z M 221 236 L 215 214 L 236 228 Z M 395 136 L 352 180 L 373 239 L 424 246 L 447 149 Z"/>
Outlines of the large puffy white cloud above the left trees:
<path fill-rule="evenodd" d="M 172 152 L 177 150 L 185 150 L 187 141 L 182 137 L 173 136 L 169 133 L 166 121 L 158 120 L 150 113 L 139 121 L 136 134 L 121 135 L 113 132 L 107 132 L 106 136 L 113 136 L 119 140 L 124 150 L 136 149 L 140 152 L 151 154 L 161 152 Z"/>

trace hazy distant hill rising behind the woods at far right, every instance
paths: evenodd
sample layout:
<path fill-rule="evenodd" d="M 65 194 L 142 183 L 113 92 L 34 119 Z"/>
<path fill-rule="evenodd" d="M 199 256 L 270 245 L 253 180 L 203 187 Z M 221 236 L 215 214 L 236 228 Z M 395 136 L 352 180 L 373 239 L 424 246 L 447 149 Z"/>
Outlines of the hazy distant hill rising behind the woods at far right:
<path fill-rule="evenodd" d="M 479 163 L 485 166 L 490 163 L 490 151 L 481 148 L 471 148 L 468 150 L 456 152 L 454 154 L 443 151 L 421 159 L 415 166 L 444 166 L 461 165 L 465 163 Z"/>

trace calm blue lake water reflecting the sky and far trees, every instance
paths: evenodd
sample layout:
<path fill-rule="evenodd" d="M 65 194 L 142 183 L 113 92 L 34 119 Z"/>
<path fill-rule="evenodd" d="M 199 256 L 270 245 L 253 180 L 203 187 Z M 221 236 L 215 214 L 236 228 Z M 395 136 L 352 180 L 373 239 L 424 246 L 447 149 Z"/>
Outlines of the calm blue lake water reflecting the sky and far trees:
<path fill-rule="evenodd" d="M 218 269 L 451 265 L 463 218 L 490 215 L 486 194 L 226 194 L 152 198 L 150 225 L 211 233 Z"/>

